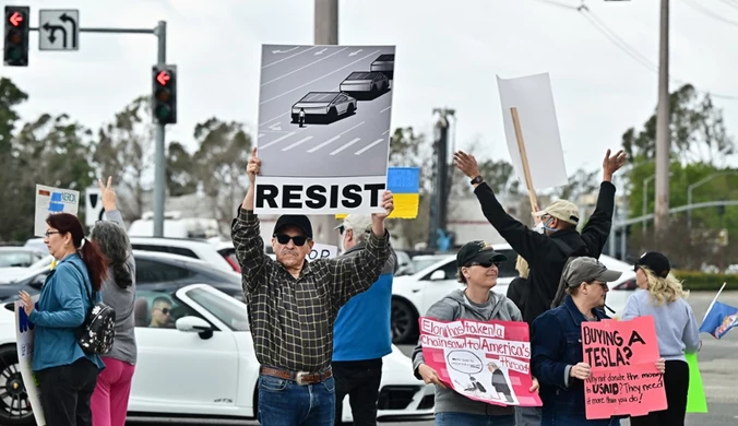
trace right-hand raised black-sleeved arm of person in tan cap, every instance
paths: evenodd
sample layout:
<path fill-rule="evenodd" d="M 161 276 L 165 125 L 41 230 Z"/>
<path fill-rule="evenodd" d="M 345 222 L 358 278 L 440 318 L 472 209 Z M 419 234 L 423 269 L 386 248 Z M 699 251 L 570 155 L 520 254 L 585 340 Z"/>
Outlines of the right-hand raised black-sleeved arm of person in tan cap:
<path fill-rule="evenodd" d="M 603 159 L 603 182 L 599 186 L 599 196 L 594 213 L 590 216 L 587 224 L 582 229 L 582 239 L 590 249 L 590 256 L 599 258 L 605 242 L 610 236 L 612 227 L 612 214 L 615 213 L 615 185 L 612 185 L 612 175 L 626 164 L 627 155 L 620 150 L 614 156 L 610 156 L 610 150 L 607 150 L 605 159 Z"/>

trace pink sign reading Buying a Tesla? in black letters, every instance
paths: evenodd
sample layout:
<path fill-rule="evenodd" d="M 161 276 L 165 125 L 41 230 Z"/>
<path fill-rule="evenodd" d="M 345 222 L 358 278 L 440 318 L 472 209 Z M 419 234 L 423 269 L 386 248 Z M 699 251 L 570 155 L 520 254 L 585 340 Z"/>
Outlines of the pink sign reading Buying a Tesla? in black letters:
<path fill-rule="evenodd" d="M 653 317 L 582 323 L 586 418 L 645 415 L 666 410 L 664 375 L 658 372 L 658 342 Z"/>

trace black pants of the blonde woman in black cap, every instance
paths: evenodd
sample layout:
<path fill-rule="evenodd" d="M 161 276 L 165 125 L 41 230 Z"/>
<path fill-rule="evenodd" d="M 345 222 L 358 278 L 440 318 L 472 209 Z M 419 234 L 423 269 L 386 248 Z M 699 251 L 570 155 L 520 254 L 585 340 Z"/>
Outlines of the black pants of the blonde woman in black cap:
<path fill-rule="evenodd" d="M 668 409 L 654 411 L 645 416 L 630 417 L 631 426 L 685 426 L 689 392 L 689 365 L 686 362 L 666 362 L 664 388 Z"/>

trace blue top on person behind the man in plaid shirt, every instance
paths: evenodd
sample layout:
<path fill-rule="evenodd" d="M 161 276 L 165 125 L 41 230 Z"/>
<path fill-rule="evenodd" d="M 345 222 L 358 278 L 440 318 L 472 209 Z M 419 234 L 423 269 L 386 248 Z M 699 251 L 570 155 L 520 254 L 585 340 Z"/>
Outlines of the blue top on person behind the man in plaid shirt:
<path fill-rule="evenodd" d="M 358 244 L 344 256 L 364 250 Z M 391 250 L 382 274 L 368 291 L 352 297 L 341 309 L 333 324 L 333 360 L 367 360 L 392 353 L 392 279 L 397 267 Z"/>

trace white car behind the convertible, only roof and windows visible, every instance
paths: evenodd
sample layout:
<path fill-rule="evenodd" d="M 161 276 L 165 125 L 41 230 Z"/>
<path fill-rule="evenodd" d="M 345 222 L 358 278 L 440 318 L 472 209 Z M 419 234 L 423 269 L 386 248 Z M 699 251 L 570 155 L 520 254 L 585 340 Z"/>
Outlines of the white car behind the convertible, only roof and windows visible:
<path fill-rule="evenodd" d="M 205 239 L 129 237 L 134 250 L 159 251 L 200 259 L 211 267 L 234 271 L 234 267 Z"/>

